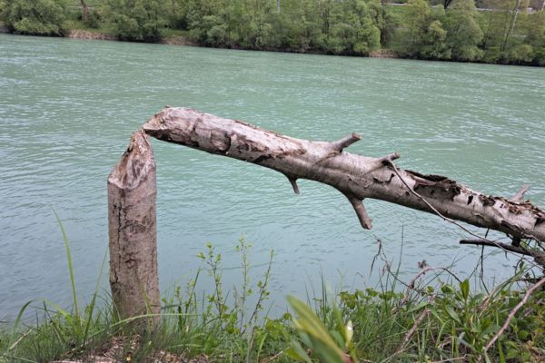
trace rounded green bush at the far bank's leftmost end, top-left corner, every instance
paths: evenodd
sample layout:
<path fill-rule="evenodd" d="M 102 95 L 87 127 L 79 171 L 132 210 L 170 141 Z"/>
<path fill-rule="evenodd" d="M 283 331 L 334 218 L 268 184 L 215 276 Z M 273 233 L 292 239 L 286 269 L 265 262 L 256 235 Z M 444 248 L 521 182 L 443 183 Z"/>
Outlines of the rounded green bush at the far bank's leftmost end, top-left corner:
<path fill-rule="evenodd" d="M 64 0 L 3 0 L 0 9 L 0 20 L 12 32 L 64 35 Z"/>

